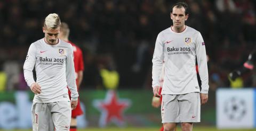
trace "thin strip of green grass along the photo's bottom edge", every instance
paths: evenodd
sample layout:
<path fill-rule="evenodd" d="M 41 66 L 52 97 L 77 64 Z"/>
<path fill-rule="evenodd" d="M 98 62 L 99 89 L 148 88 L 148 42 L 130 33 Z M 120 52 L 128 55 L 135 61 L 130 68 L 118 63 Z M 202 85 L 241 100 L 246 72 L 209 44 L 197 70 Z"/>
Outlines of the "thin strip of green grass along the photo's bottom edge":
<path fill-rule="evenodd" d="M 78 129 L 78 131 L 158 131 L 159 128 L 86 128 L 86 129 Z M 214 130 L 220 130 L 220 131 L 256 131 L 256 129 L 217 129 L 216 127 L 194 127 L 194 131 L 214 131 Z M 0 131 L 31 131 L 31 129 L 27 130 L 21 130 L 21 129 L 15 129 L 15 130 L 1 130 Z M 181 131 L 180 128 L 178 128 L 178 131 Z"/>

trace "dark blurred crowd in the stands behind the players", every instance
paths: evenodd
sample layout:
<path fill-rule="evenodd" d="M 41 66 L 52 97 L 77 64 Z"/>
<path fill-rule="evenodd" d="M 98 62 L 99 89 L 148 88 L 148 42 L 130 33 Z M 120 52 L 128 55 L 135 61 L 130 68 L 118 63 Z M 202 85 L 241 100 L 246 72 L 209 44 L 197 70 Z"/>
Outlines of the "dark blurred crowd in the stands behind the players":
<path fill-rule="evenodd" d="M 100 69 L 118 73 L 116 86 L 151 89 L 151 58 L 157 34 L 172 25 L 167 0 L 0 1 L 0 91 L 26 90 L 22 66 L 29 45 L 44 37 L 45 16 L 58 13 L 69 24 L 70 40 L 82 48 L 81 89 L 104 89 Z M 228 73 L 239 68 L 256 42 L 256 1 L 187 0 L 187 25 L 202 33 L 209 55 L 210 90 L 229 87 Z M 255 47 L 256 48 L 256 47 Z M 251 74 L 254 74 L 252 72 Z M 256 86 L 256 75 L 241 86 Z M 111 74 L 110 74 L 111 75 Z M 116 82 L 118 81 L 118 82 Z"/>

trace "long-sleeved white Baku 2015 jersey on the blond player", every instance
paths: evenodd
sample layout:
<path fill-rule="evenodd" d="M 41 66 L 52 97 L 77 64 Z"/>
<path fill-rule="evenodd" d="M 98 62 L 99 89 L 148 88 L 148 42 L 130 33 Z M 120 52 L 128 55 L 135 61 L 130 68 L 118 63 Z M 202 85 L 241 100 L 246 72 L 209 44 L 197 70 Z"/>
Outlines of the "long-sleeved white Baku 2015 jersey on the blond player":
<path fill-rule="evenodd" d="M 49 45 L 43 39 L 32 43 L 23 69 L 25 80 L 30 87 L 35 83 L 33 68 L 36 69 L 36 82 L 42 93 L 35 94 L 34 102 L 49 103 L 68 101 L 68 88 L 71 100 L 77 100 L 76 76 L 73 62 L 73 47 L 59 39 L 56 45 Z"/>

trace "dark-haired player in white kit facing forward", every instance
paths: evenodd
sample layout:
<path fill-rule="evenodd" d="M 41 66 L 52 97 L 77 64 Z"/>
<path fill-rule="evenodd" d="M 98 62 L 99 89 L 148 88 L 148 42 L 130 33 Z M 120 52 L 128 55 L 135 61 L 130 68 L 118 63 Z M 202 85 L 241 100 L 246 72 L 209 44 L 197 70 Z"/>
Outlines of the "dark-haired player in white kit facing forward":
<path fill-rule="evenodd" d="M 183 2 L 172 6 L 173 25 L 160 32 L 153 55 L 152 86 L 159 95 L 159 77 L 163 61 L 165 75 L 162 89 L 161 115 L 164 130 L 173 130 L 181 123 L 182 130 L 193 130 L 200 122 L 201 104 L 208 100 L 209 78 L 205 42 L 200 32 L 185 25 L 188 5 Z M 202 81 L 200 91 L 196 75 L 196 59 Z"/>

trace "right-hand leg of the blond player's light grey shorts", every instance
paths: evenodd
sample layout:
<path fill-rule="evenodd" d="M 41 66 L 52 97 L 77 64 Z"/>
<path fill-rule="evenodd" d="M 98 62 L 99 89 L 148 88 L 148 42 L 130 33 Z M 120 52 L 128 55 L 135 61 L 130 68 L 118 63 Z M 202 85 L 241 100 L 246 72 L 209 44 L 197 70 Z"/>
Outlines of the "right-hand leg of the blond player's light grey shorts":
<path fill-rule="evenodd" d="M 56 131 L 69 130 L 71 106 L 69 101 L 58 101 L 52 104 L 52 119 Z"/>

